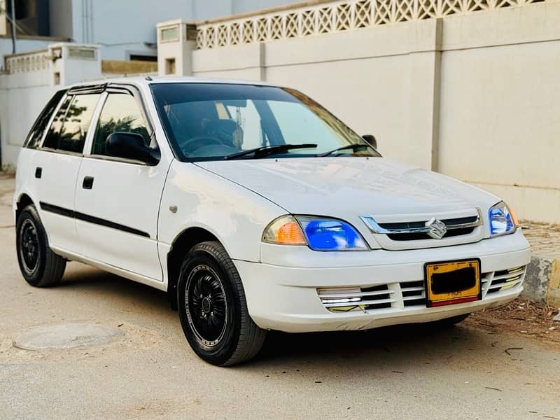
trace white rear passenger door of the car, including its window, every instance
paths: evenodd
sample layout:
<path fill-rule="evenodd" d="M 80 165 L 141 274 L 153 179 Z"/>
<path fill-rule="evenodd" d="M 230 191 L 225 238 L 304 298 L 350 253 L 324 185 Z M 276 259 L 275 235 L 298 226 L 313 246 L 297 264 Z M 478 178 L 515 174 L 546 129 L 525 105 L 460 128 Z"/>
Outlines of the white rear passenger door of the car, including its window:
<path fill-rule="evenodd" d="M 38 211 L 49 244 L 71 253 L 80 251 L 73 218 L 74 194 L 85 140 L 99 97 L 100 92 L 67 93 L 31 165 Z"/>

